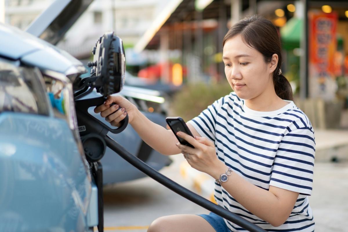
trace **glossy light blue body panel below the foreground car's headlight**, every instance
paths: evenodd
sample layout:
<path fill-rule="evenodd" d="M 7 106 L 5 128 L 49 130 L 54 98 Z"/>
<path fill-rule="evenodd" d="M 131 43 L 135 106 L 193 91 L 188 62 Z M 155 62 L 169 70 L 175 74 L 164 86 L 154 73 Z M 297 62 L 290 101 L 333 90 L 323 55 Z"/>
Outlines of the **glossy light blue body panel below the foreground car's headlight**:
<path fill-rule="evenodd" d="M 0 231 L 88 230 L 91 179 L 67 123 L 2 112 L 0 141 Z"/>

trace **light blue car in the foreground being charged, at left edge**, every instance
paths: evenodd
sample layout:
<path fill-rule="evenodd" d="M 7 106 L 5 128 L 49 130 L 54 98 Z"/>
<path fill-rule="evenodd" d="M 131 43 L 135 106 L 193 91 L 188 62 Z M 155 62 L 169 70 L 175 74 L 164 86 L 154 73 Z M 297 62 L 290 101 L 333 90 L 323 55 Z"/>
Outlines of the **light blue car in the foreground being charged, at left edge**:
<path fill-rule="evenodd" d="M 74 78 L 84 67 L 0 24 L 0 231 L 93 231 L 98 189 L 80 141 Z"/>

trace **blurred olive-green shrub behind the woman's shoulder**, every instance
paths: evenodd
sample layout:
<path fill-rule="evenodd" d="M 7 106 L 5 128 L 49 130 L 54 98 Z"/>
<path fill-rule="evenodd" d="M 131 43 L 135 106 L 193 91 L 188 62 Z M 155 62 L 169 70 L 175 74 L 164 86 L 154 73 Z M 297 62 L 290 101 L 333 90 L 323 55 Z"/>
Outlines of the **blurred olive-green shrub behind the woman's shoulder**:
<path fill-rule="evenodd" d="M 220 83 L 189 83 L 176 93 L 169 103 L 168 116 L 181 117 L 185 122 L 198 116 L 214 101 L 226 96 L 233 90 L 225 80 Z"/>

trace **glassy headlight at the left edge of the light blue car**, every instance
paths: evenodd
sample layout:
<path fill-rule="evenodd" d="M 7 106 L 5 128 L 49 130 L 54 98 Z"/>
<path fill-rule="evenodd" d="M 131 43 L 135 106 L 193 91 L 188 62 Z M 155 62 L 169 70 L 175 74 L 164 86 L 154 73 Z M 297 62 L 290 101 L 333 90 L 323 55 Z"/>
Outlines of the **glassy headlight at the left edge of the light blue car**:
<path fill-rule="evenodd" d="M 0 112 L 49 115 L 49 109 L 39 69 L 0 60 Z"/>

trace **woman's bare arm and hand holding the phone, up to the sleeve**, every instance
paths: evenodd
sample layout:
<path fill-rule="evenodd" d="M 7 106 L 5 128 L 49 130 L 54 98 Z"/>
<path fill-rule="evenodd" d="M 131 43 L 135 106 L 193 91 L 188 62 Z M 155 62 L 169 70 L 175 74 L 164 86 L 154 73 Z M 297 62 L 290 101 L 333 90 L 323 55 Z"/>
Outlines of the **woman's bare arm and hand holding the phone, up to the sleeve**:
<path fill-rule="evenodd" d="M 186 160 L 191 167 L 207 173 L 214 179 L 220 179 L 220 175 L 226 173 L 228 168 L 217 158 L 215 144 L 212 141 L 205 137 L 196 140 L 181 132 L 178 136 L 195 146 L 193 149 L 177 143 L 182 150 L 181 153 L 190 154 Z M 298 192 L 275 186 L 270 186 L 268 191 L 261 189 L 234 171 L 228 177 L 228 181 L 222 183 L 222 187 L 248 211 L 272 226 L 280 226 L 286 221 L 299 195 Z"/>

